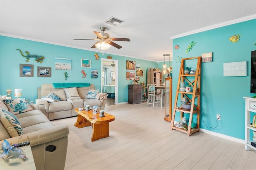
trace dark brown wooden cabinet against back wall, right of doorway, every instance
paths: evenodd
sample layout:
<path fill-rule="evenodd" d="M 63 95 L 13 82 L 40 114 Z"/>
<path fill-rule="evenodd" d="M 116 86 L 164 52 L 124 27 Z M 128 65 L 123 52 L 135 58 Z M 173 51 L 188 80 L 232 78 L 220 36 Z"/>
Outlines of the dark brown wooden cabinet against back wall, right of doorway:
<path fill-rule="evenodd" d="M 128 103 L 142 103 L 142 85 L 128 85 Z"/>

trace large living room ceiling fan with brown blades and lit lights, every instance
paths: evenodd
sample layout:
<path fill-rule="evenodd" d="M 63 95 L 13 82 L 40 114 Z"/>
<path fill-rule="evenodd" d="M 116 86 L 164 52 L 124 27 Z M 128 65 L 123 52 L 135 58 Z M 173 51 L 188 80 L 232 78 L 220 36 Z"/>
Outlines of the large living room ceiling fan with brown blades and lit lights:
<path fill-rule="evenodd" d="M 123 42 L 130 42 L 129 38 L 110 38 L 108 33 L 105 33 L 104 31 L 106 30 L 106 27 L 100 27 L 100 30 L 102 32 L 96 32 L 94 31 L 94 33 L 97 35 L 97 39 L 74 39 L 74 40 L 100 40 L 98 42 L 96 42 L 94 45 L 92 45 L 91 48 L 99 48 L 102 50 L 108 49 L 112 46 L 120 49 L 122 48 L 122 46 L 112 42 L 112 41 L 123 41 Z"/>

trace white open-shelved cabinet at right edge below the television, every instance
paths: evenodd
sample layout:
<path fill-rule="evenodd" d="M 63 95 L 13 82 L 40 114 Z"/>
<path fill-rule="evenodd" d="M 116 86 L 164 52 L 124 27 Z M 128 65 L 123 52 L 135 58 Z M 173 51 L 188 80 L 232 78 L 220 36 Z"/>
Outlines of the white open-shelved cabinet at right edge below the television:
<path fill-rule="evenodd" d="M 253 148 L 256 150 L 256 147 L 251 145 L 252 140 L 250 140 L 251 136 L 251 130 L 256 131 L 256 128 L 250 127 L 250 123 L 252 123 L 252 120 L 250 120 L 250 112 L 253 112 L 256 114 L 256 99 L 252 97 L 244 97 L 245 99 L 245 144 L 244 149 L 249 150 L 250 148 Z M 252 113 L 252 114 L 253 114 Z"/>

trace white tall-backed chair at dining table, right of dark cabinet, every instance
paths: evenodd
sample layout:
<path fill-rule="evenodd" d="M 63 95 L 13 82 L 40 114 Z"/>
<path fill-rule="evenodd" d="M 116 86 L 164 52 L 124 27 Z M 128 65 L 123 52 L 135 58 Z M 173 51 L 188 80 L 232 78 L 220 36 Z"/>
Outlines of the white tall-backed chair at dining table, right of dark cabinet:
<path fill-rule="evenodd" d="M 150 84 L 148 85 L 148 100 L 147 100 L 147 107 L 148 105 L 154 105 L 155 103 L 158 104 L 158 106 L 161 103 L 161 93 L 156 93 L 156 85 L 155 84 Z"/>

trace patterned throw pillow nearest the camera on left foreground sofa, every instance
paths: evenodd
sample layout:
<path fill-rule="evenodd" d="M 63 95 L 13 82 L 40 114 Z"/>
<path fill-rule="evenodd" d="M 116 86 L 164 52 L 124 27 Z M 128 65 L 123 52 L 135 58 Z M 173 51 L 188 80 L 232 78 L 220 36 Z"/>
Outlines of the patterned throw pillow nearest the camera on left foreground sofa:
<path fill-rule="evenodd" d="M 24 132 L 17 117 L 9 111 L 4 109 L 1 110 L 0 121 L 8 131 L 9 135 L 11 137 L 23 135 Z"/>

